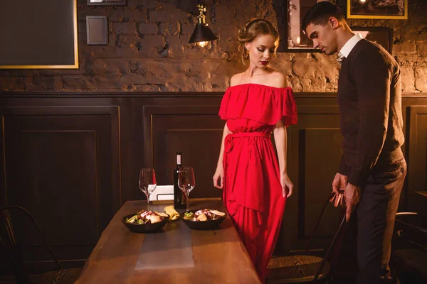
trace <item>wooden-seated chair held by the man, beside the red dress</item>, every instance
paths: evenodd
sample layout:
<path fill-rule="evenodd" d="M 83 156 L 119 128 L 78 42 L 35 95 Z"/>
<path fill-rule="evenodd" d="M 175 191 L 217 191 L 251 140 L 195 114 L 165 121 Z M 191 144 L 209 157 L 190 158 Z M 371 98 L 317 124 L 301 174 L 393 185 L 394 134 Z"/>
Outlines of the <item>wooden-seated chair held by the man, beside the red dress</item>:
<path fill-rule="evenodd" d="M 310 243 L 313 236 L 315 236 L 317 227 L 319 226 L 320 219 L 322 218 L 325 208 L 327 207 L 327 204 L 330 203 L 332 197 L 334 197 L 333 192 L 323 205 L 322 212 L 320 213 L 319 219 L 317 219 L 317 224 L 305 249 L 305 253 L 307 253 L 307 255 L 278 256 L 271 258 L 267 271 L 265 272 L 266 284 L 310 282 L 330 283 L 330 264 L 327 262 L 327 259 L 330 256 L 330 252 L 335 241 L 337 241 L 339 232 L 342 230 L 346 222 L 345 214 L 326 250 L 325 256 L 312 256 L 309 254 L 308 250 L 310 249 Z"/>

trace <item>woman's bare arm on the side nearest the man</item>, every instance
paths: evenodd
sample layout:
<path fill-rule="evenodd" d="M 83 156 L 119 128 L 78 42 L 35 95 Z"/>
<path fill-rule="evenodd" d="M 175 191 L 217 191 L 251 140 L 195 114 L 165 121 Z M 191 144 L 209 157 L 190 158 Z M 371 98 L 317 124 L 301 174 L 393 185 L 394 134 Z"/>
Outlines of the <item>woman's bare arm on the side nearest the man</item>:
<path fill-rule="evenodd" d="M 292 195 L 293 184 L 288 177 L 288 168 L 286 165 L 287 161 L 287 147 L 288 147 L 288 136 L 286 133 L 286 127 L 283 121 L 280 119 L 273 129 L 274 141 L 276 149 L 278 151 L 279 161 L 279 172 L 280 172 L 280 184 L 282 185 L 283 197 L 290 197 Z"/>

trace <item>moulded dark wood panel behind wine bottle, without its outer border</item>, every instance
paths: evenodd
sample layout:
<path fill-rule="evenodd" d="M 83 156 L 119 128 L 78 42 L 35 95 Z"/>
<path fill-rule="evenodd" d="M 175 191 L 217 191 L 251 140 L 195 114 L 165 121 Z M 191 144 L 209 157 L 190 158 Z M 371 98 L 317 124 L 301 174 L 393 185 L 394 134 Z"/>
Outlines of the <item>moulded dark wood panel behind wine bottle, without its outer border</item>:
<path fill-rule="evenodd" d="M 191 197 L 220 197 L 212 184 L 224 121 L 216 106 L 144 107 L 146 165 L 153 165 L 159 185 L 172 185 L 176 151 L 183 164 L 194 168 L 196 187 Z"/>

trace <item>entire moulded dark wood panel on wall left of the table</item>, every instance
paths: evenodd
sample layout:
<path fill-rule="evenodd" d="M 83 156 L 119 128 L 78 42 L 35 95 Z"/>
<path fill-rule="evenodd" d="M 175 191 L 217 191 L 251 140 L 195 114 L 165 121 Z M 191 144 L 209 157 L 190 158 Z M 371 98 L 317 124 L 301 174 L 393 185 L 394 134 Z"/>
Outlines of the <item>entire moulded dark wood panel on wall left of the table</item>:
<path fill-rule="evenodd" d="M 0 112 L 6 153 L 1 203 L 29 209 L 60 259 L 86 258 L 121 205 L 118 108 Z M 43 246 L 40 239 L 27 244 L 33 251 Z"/>

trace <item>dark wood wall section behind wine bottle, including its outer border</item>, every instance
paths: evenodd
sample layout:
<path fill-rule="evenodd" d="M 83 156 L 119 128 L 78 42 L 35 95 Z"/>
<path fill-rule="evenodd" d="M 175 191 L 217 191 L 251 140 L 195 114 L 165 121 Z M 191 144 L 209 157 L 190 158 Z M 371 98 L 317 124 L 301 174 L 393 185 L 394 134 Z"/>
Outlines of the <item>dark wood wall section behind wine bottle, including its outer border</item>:
<path fill-rule="evenodd" d="M 218 194 L 213 186 L 204 185 L 209 185 L 214 175 L 221 146 L 221 134 L 219 134 L 219 138 L 204 140 L 206 145 L 204 145 L 204 155 L 201 155 L 203 159 L 194 155 L 194 145 L 201 147 L 202 143 L 192 139 L 189 139 L 189 143 L 182 143 L 179 137 L 186 133 L 197 136 L 198 131 L 207 131 L 210 133 L 209 135 L 215 136 L 214 133 L 218 129 L 222 131 L 224 121 L 218 117 L 221 95 L 218 93 L 167 93 L 131 98 L 132 171 L 127 174 L 131 180 L 130 195 L 132 199 L 144 200 L 146 198 L 138 188 L 140 168 L 154 166 L 160 179 L 159 184 L 160 182 L 163 185 L 172 184 L 172 170 L 176 167 L 175 155 L 178 150 L 184 152 L 184 164 L 194 166 L 196 171 L 196 188 L 191 193 L 191 197 L 199 196 L 202 192 Z M 178 141 L 170 141 L 173 138 Z M 154 140 L 159 142 L 154 142 Z M 208 168 L 199 168 L 201 163 Z M 162 173 L 165 175 L 163 176 Z M 209 182 L 202 177 L 209 177 Z"/>

